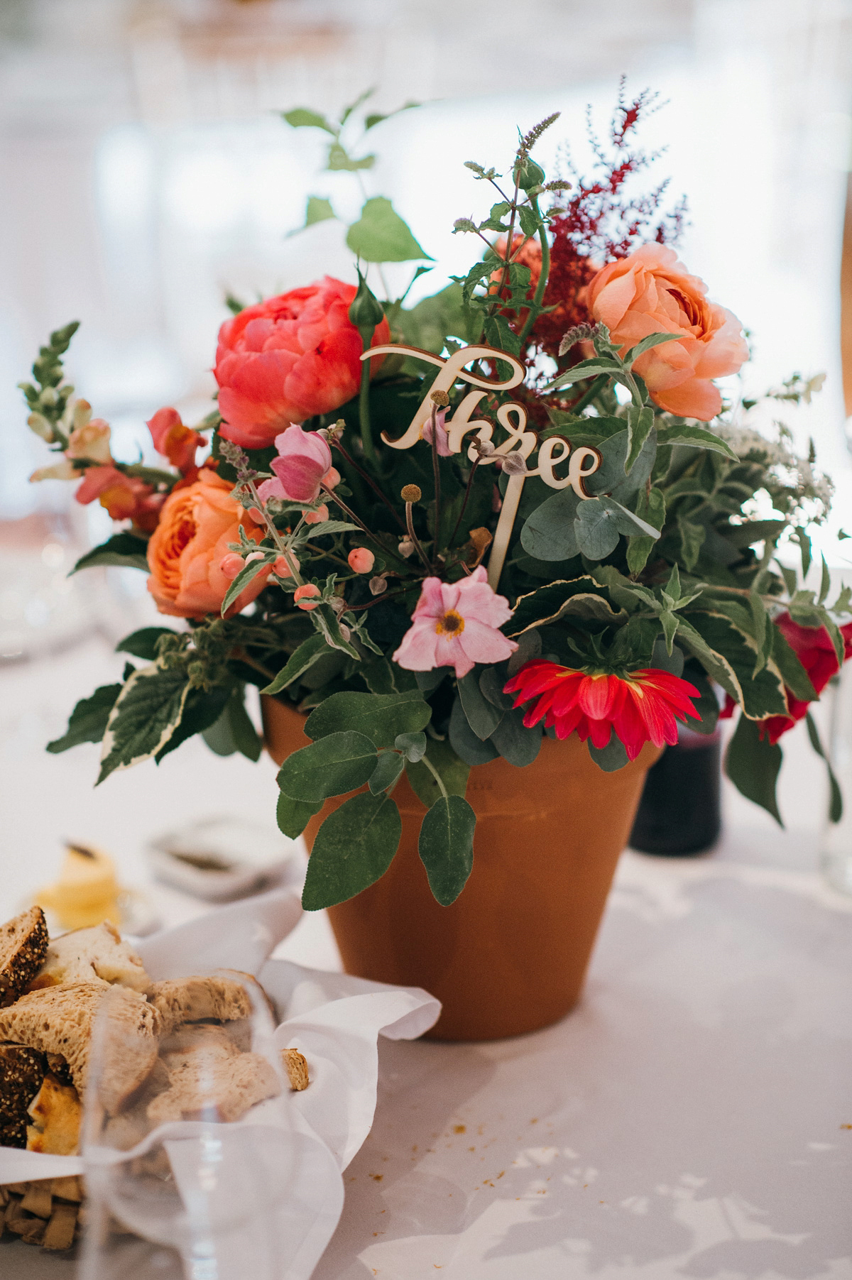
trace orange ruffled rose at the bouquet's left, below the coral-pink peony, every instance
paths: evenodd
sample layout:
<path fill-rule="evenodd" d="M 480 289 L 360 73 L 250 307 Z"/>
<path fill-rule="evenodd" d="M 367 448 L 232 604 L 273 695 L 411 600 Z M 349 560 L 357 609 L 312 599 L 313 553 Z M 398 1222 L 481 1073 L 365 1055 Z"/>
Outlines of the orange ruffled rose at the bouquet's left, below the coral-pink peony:
<path fill-rule="evenodd" d="M 148 591 L 160 613 L 180 618 L 219 613 L 230 586 L 223 571 L 228 544 L 239 541 L 241 525 L 248 538 L 261 540 L 261 530 L 247 524 L 246 512 L 230 490 L 229 484 L 205 467 L 197 480 L 166 498 L 148 543 Z M 267 576 L 258 573 L 228 614 L 244 609 L 264 589 Z"/>

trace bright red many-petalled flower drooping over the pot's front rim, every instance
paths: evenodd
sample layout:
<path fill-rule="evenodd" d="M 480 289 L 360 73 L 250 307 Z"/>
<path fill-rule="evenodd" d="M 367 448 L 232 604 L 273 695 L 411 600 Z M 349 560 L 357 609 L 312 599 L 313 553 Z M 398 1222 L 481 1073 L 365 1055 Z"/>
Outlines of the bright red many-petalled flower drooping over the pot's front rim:
<path fill-rule="evenodd" d="M 656 668 L 613 676 L 536 658 L 523 664 L 504 691 L 518 695 L 516 707 L 536 699 L 523 717 L 527 727 L 544 717 L 548 728 L 555 726 L 556 737 L 576 732 L 581 742 L 590 737 L 596 748 L 606 746 L 615 730 L 631 760 L 645 742 L 677 742 L 678 719 L 701 718 L 690 701 L 701 696 L 695 685 Z"/>

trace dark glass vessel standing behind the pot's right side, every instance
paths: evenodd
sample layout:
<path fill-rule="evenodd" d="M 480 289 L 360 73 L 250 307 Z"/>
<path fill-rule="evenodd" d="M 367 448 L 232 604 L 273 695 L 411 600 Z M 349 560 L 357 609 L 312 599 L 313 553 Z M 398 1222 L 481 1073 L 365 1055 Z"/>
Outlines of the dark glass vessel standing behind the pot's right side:
<path fill-rule="evenodd" d="M 705 737 L 688 730 L 677 746 L 667 746 L 647 772 L 631 849 L 677 858 L 715 844 L 722 828 L 720 750 L 718 733 Z"/>

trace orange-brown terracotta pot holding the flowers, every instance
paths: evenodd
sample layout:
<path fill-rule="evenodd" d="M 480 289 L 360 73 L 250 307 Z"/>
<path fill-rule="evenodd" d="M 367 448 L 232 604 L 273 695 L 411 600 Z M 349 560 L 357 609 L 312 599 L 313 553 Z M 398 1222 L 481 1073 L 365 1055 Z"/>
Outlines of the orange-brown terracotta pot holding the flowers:
<path fill-rule="evenodd" d="M 281 763 L 307 745 L 304 718 L 262 699 L 266 746 Z M 604 773 L 577 737 L 544 739 L 523 769 L 503 758 L 471 769 L 473 870 L 452 906 L 431 895 L 417 854 L 426 812 L 403 774 L 402 841 L 381 879 L 329 910 L 347 973 L 425 987 L 444 1010 L 434 1039 L 498 1039 L 556 1021 L 577 1002 L 615 864 L 645 774 L 660 751 Z M 308 849 L 329 800 L 307 826 Z"/>

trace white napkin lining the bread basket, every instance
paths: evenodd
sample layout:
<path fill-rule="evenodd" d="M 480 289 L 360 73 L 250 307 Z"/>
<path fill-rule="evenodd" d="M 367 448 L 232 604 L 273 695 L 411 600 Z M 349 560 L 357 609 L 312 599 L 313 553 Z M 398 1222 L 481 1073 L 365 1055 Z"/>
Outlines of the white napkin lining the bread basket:
<path fill-rule="evenodd" d="M 420 988 L 388 987 L 267 960 L 298 923 L 301 913 L 297 888 L 275 888 L 164 929 L 137 947 L 155 980 L 224 968 L 255 974 L 280 1019 L 275 1044 L 296 1047 L 307 1059 L 311 1079 L 307 1089 L 287 1091 L 281 1098 L 255 1107 L 238 1124 L 220 1126 L 224 1169 L 228 1146 L 237 1148 L 248 1140 L 237 1135 L 235 1130 L 243 1126 L 262 1128 L 264 1135 L 253 1135 L 252 1140 L 270 1153 L 276 1144 L 280 1148 L 281 1140 L 288 1144 L 288 1193 L 276 1203 L 271 1224 L 281 1280 L 308 1280 L 340 1217 L 342 1170 L 367 1137 L 376 1107 L 379 1034 L 414 1039 L 440 1014 L 440 1004 Z M 191 1146 L 197 1140 L 191 1123 L 168 1129 L 170 1140 Z M 150 1140 L 148 1137 L 146 1142 Z M 192 1152 L 189 1147 L 184 1149 L 182 1178 L 191 1193 Z M 92 1158 L 99 1164 L 96 1153 Z M 45 1156 L 0 1147 L 0 1184 L 65 1178 L 86 1169 L 81 1156 Z M 97 1176 L 93 1167 L 91 1172 Z M 241 1248 L 239 1233 L 233 1244 Z"/>

